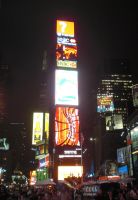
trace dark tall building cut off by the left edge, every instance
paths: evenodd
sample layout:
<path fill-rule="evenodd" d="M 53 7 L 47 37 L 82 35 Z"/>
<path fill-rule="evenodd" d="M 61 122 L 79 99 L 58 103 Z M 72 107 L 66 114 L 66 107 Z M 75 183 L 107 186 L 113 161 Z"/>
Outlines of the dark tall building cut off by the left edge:
<path fill-rule="evenodd" d="M 8 138 L 8 93 L 9 68 L 0 65 L 0 171 L 4 171 L 6 180 L 10 173 L 11 153 Z M 1 173 L 0 173 L 1 176 Z"/>

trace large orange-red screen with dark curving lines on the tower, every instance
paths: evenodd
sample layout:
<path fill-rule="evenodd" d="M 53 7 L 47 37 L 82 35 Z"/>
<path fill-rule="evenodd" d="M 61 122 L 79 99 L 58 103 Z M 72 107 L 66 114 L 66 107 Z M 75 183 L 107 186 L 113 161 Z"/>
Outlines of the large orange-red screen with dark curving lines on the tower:
<path fill-rule="evenodd" d="M 80 145 L 78 109 L 70 107 L 56 107 L 55 144 L 59 146 Z"/>

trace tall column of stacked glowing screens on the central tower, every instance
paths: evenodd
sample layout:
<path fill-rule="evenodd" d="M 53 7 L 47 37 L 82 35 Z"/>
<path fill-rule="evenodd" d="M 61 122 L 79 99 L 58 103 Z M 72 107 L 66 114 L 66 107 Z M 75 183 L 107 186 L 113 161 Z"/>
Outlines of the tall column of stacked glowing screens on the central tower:
<path fill-rule="evenodd" d="M 76 152 L 74 150 L 80 146 L 77 42 L 75 39 L 74 22 L 57 20 L 56 33 L 55 148 L 61 150 L 60 152 L 63 155 L 59 157 L 63 156 L 62 163 L 64 163 L 62 166 L 58 166 L 58 177 L 60 176 L 59 171 L 61 167 L 62 172 L 66 172 L 66 175 L 62 174 L 65 177 L 74 174 L 75 167 L 77 167 L 78 173 L 79 169 L 81 169 L 81 166 L 75 166 L 74 164 L 74 157 L 78 155 L 64 156 L 66 150 L 70 149 L 72 152 Z M 64 157 L 66 158 L 64 159 Z M 70 167 L 67 168 L 68 163 Z M 82 170 L 80 171 L 79 176 L 82 175 Z"/>

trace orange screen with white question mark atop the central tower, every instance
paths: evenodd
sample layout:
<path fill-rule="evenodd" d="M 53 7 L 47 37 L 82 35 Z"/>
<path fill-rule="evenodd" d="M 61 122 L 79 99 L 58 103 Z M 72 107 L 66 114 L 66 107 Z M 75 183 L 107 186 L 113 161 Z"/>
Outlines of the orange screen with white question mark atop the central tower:
<path fill-rule="evenodd" d="M 57 35 L 74 37 L 74 22 L 57 20 Z"/>

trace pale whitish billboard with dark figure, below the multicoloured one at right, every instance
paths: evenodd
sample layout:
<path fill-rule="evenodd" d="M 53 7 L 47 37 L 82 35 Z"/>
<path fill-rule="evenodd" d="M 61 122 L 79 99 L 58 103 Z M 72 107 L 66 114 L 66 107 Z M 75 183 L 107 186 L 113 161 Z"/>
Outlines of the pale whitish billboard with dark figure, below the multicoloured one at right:
<path fill-rule="evenodd" d="M 122 115 L 111 115 L 106 116 L 106 130 L 113 131 L 123 129 L 123 118 Z"/>

